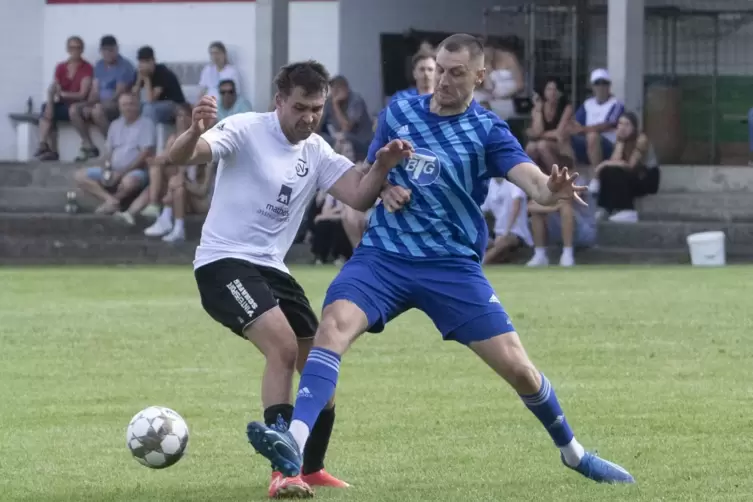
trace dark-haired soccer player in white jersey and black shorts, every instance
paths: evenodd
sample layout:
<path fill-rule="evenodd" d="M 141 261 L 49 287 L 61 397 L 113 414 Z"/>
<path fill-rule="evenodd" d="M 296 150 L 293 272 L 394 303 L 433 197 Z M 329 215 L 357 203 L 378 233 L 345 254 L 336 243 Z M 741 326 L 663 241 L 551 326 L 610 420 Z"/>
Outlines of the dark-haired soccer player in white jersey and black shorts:
<path fill-rule="evenodd" d="M 389 170 L 411 155 L 395 140 L 365 173 L 313 131 L 322 116 L 329 75 L 315 61 L 283 67 L 275 79 L 275 111 L 216 121 L 215 98 L 193 111 L 191 128 L 170 149 L 176 165 L 219 162 L 214 197 L 196 249 L 194 269 L 207 313 L 264 354 L 264 421 L 286 430 L 293 373 L 302 368 L 318 327 L 303 288 L 283 259 L 317 190 L 358 210 L 370 208 Z M 312 430 L 301 476 L 273 467 L 273 498 L 312 496 L 311 486 L 346 487 L 324 470 L 334 423 L 330 400 Z M 316 439 L 314 439 L 316 437 Z"/>

